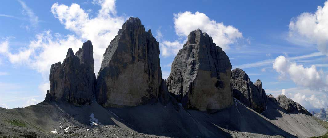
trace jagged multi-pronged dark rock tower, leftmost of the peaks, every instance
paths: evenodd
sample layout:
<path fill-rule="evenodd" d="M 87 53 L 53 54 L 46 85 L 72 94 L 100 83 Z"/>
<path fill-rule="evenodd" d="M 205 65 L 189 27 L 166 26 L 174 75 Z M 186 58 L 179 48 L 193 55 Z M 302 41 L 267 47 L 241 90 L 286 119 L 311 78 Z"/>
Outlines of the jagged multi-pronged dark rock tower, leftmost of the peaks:
<path fill-rule="evenodd" d="M 85 42 L 76 55 L 69 48 L 63 64 L 51 65 L 46 100 L 66 101 L 75 106 L 90 105 L 96 82 L 93 66 L 91 41 Z"/>

